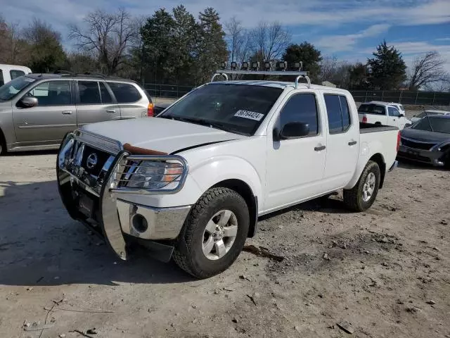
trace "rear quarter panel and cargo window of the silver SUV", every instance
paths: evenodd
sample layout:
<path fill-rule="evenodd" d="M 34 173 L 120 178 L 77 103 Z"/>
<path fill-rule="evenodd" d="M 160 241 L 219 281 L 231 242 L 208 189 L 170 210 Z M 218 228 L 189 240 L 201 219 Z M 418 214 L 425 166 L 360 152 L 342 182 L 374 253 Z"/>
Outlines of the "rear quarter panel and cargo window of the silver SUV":
<path fill-rule="evenodd" d="M 117 104 L 120 107 L 122 119 L 141 118 L 147 115 L 148 99 L 145 95 L 129 82 L 107 82 L 114 93 Z"/>

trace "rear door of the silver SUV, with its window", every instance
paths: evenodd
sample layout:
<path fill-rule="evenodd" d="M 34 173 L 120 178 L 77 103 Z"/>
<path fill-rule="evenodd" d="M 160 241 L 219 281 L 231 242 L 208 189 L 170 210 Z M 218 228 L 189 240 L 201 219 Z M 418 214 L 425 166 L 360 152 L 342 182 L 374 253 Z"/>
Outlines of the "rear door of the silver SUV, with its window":
<path fill-rule="evenodd" d="M 120 108 L 105 82 L 77 80 L 77 125 L 120 119 Z"/>

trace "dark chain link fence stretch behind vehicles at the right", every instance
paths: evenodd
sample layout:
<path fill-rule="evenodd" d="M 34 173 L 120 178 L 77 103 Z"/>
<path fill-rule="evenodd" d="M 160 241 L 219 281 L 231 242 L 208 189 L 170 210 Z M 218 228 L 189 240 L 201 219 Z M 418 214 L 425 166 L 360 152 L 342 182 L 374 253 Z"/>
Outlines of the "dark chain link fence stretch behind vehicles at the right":
<path fill-rule="evenodd" d="M 450 105 L 450 93 L 443 92 L 409 92 L 405 90 L 352 90 L 350 92 L 356 102 L 386 101 L 427 106 Z"/>

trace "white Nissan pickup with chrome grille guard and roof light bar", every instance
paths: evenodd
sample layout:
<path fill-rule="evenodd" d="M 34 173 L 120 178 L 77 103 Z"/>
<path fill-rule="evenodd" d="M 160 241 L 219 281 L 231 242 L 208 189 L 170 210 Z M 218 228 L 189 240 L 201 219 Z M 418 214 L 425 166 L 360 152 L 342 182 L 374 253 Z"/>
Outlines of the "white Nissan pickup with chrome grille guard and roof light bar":
<path fill-rule="evenodd" d="M 157 118 L 69 133 L 57 160 L 68 213 L 124 260 L 137 242 L 204 278 L 236 260 L 261 215 L 338 189 L 366 210 L 397 165 L 399 130 L 360 129 L 349 92 L 302 77 L 210 82 Z"/>

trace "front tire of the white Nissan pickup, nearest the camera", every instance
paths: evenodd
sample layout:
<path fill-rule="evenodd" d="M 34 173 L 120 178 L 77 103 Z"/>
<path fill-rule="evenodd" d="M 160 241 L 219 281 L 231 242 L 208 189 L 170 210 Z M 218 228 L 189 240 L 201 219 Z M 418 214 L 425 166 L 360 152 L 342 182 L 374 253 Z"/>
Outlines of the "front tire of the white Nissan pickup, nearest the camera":
<path fill-rule="evenodd" d="M 220 251 L 222 252 L 219 253 L 216 246 L 219 242 L 214 242 L 212 251 L 208 254 L 204 253 L 204 247 L 209 247 L 207 245 L 210 243 L 211 238 L 214 241 L 220 241 L 221 239 L 220 233 L 217 237 L 214 237 L 213 234 L 208 232 L 211 222 L 214 225 L 219 223 L 220 226 L 220 220 L 222 217 L 225 220 L 226 215 L 230 215 L 229 212 L 231 212 L 231 216 L 224 229 L 231 229 L 236 223 L 237 231 L 234 228 L 233 233 L 236 231 L 236 237 L 232 243 L 231 237 L 226 237 L 227 232 L 224 232 L 222 244 L 229 245 L 231 243 L 229 249 L 227 249 L 228 251 L 224 253 L 223 246 L 221 246 L 222 249 Z M 232 189 L 222 187 L 209 189 L 193 205 L 191 213 L 186 218 L 184 231 L 181 232 L 183 238 L 179 240 L 179 244 L 176 245 L 174 250 L 174 261 L 186 273 L 197 278 L 217 275 L 229 268 L 238 258 L 245 244 L 245 239 L 247 239 L 249 226 L 250 215 L 248 206 L 240 194 Z M 183 241 L 186 244 L 185 246 L 180 244 Z M 208 249 L 205 250 L 208 251 Z"/>

